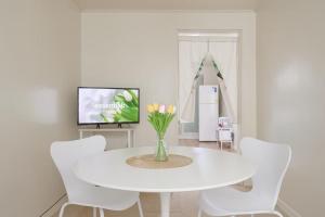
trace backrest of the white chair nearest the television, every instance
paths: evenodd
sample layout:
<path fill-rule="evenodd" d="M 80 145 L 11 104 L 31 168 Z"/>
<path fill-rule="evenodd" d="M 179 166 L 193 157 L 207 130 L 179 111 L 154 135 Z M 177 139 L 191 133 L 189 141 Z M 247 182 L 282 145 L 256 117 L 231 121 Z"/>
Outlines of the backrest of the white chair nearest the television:
<path fill-rule="evenodd" d="M 104 152 L 106 140 L 102 136 L 52 143 L 51 155 L 62 176 L 70 201 L 76 201 L 80 192 L 89 188 L 88 183 L 82 182 L 75 176 L 73 166 L 82 157 Z"/>

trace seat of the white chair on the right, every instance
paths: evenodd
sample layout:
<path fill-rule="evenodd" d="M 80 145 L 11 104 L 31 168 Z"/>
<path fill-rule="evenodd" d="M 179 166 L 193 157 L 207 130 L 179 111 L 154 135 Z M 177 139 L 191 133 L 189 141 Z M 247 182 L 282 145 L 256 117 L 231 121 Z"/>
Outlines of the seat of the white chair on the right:
<path fill-rule="evenodd" d="M 270 206 L 270 200 L 259 195 L 258 192 L 243 192 L 231 187 L 203 191 L 199 201 L 202 209 L 212 216 L 273 210 L 273 207 Z"/>

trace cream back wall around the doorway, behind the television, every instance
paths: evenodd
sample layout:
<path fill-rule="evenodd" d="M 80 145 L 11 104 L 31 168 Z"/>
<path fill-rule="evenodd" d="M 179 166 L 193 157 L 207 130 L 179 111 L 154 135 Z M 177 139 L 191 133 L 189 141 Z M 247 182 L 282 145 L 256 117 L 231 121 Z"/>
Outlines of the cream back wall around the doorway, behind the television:
<path fill-rule="evenodd" d="M 255 18 L 252 12 L 83 12 L 81 84 L 141 88 L 136 142 L 150 144 L 155 133 L 146 122 L 145 105 L 178 100 L 178 30 L 242 30 L 243 135 L 255 136 Z M 167 141 L 177 143 L 177 137 L 173 122 Z"/>

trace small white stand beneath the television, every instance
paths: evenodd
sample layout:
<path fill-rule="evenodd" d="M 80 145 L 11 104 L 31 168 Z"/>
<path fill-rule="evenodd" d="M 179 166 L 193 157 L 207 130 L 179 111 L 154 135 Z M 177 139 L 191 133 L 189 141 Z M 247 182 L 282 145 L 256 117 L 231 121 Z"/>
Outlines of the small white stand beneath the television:
<path fill-rule="evenodd" d="M 128 136 L 128 148 L 135 146 L 135 130 L 133 128 L 79 128 L 79 137 L 83 138 L 83 132 L 126 132 Z"/>

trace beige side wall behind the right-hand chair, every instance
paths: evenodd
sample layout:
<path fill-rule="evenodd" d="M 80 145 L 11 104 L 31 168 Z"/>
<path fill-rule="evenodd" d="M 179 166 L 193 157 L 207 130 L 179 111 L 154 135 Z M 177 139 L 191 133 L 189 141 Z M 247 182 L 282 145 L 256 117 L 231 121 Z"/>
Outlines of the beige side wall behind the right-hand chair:
<path fill-rule="evenodd" d="M 292 146 L 281 197 L 324 216 L 325 2 L 262 0 L 258 10 L 258 136 Z"/>

